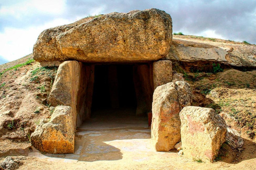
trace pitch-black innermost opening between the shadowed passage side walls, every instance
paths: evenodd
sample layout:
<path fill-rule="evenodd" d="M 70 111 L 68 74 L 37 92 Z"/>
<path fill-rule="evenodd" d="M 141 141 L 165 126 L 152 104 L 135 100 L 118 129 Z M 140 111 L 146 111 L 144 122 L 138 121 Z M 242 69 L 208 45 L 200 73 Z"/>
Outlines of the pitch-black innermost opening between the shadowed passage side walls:
<path fill-rule="evenodd" d="M 133 65 L 95 65 L 92 116 L 99 109 L 137 107 Z"/>

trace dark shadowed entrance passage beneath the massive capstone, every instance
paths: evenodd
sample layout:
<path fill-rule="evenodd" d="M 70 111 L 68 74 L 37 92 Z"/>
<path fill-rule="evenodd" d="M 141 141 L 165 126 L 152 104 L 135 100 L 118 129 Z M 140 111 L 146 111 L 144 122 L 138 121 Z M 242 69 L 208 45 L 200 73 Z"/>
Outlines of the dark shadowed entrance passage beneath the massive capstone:
<path fill-rule="evenodd" d="M 147 116 L 151 112 L 154 91 L 152 63 L 84 63 L 81 75 L 77 127 L 97 116 L 103 118 L 107 115 L 106 118 L 112 116 L 115 119 L 124 115 L 125 121 L 125 116 Z"/>

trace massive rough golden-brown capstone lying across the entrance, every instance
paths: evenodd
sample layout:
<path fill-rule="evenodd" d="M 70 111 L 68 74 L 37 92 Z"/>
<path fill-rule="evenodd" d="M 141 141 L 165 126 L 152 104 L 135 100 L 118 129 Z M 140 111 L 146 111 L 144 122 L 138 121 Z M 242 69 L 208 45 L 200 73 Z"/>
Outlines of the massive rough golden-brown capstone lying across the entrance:
<path fill-rule="evenodd" d="M 44 30 L 34 45 L 38 62 L 140 62 L 169 53 L 172 19 L 152 8 L 110 13 Z"/>

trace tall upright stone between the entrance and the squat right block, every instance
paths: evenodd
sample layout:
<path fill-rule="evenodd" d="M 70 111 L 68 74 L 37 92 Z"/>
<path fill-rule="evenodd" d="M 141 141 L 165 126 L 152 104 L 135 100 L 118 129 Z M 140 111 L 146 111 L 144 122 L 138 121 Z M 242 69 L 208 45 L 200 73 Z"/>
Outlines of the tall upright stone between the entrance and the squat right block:
<path fill-rule="evenodd" d="M 151 142 L 156 151 L 174 149 L 180 141 L 179 113 L 192 102 L 187 82 L 177 81 L 158 86 L 154 91 L 152 105 Z"/>

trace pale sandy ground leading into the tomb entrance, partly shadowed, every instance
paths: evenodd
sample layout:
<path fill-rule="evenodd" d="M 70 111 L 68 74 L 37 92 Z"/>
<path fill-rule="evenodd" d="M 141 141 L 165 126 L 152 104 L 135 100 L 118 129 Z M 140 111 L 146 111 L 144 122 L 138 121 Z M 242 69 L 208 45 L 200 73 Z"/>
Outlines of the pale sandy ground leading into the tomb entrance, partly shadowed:
<path fill-rule="evenodd" d="M 30 150 L 19 169 L 256 169 L 255 143 L 247 144 L 251 145 L 249 152 L 242 153 L 244 159 L 236 163 L 197 163 L 178 156 L 175 150 L 156 152 L 150 143 L 147 117 L 127 114 L 130 110 L 102 113 L 79 127 L 74 154 Z"/>

